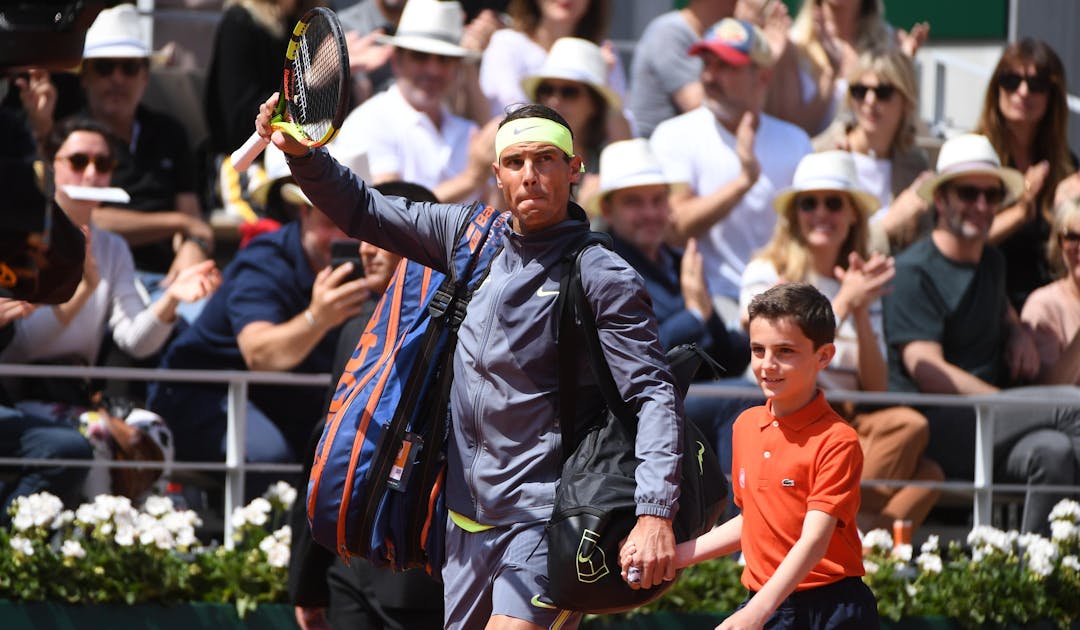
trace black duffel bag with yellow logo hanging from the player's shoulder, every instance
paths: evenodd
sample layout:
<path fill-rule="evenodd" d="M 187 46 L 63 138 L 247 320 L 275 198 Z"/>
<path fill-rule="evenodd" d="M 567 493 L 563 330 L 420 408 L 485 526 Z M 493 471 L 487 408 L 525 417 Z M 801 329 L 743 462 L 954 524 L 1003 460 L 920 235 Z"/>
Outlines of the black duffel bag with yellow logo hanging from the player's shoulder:
<path fill-rule="evenodd" d="M 546 526 L 548 595 L 561 608 L 600 614 L 647 604 L 675 582 L 635 590 L 620 573 L 619 544 L 637 523 L 637 417 L 615 385 L 599 345 L 595 317 L 584 299 L 580 274 L 580 252 L 584 249 L 573 257 L 559 291 L 559 423 L 565 463 Z M 577 419 L 573 400 L 575 354 L 581 348 L 588 351 L 607 404 L 586 423 Z M 679 396 L 686 396 L 703 361 L 712 363 L 694 345 L 667 352 Z M 728 497 L 727 480 L 716 454 L 691 421 L 684 423 L 681 468 L 678 511 L 673 521 L 676 542 L 696 538 L 716 525 Z"/>

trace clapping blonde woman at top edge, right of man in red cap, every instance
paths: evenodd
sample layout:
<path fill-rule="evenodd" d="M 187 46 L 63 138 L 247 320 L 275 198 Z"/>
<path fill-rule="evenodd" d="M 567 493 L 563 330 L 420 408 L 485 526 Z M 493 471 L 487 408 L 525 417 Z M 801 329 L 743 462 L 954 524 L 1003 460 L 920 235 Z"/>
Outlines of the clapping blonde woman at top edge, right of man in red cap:
<path fill-rule="evenodd" d="M 836 118 L 859 55 L 895 48 L 914 57 L 929 32 L 926 23 L 910 32 L 891 27 L 881 0 L 804 0 L 788 36 L 793 54 L 777 51 L 766 111 L 819 134 Z"/>

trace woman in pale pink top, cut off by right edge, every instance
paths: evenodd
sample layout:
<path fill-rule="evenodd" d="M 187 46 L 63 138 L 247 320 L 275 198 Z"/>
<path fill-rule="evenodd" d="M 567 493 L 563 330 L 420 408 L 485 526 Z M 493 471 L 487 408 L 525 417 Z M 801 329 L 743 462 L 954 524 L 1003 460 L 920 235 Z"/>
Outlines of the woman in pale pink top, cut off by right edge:
<path fill-rule="evenodd" d="M 1031 292 L 1021 319 L 1039 348 L 1039 383 L 1080 386 L 1080 199 L 1058 203 L 1051 227 L 1048 255 L 1059 278 Z"/>

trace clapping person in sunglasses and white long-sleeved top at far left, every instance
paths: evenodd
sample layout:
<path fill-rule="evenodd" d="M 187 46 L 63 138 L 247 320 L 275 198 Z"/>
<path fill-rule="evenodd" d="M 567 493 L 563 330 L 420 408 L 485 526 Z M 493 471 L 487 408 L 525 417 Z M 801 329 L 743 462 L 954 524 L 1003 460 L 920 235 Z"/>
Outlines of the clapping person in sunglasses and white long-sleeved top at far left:
<path fill-rule="evenodd" d="M 55 172 L 55 202 L 86 234 L 82 280 L 71 298 L 40 306 L 15 323 L 4 363 L 49 362 L 92 365 L 106 333 L 136 358 L 157 352 L 176 323 L 180 301 L 194 301 L 217 289 L 221 277 L 213 260 L 181 272 L 149 307 L 135 285 L 135 267 L 126 242 L 90 222 L 98 201 L 71 186 L 108 186 L 116 165 L 109 132 L 91 120 L 56 125 L 45 147 Z"/>

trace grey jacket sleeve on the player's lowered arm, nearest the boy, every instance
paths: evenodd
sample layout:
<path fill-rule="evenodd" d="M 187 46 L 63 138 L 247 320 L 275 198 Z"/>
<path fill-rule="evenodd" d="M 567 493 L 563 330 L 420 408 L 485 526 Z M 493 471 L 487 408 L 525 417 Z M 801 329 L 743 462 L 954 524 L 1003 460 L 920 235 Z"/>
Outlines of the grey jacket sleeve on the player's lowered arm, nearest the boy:
<path fill-rule="evenodd" d="M 657 318 L 642 277 L 604 247 L 582 258 L 582 284 L 596 316 L 600 346 L 623 400 L 637 414 L 637 515 L 672 518 L 683 455 L 683 401 L 660 346 Z"/>

